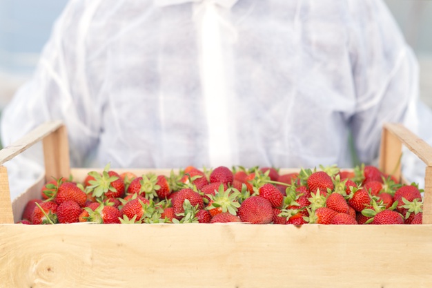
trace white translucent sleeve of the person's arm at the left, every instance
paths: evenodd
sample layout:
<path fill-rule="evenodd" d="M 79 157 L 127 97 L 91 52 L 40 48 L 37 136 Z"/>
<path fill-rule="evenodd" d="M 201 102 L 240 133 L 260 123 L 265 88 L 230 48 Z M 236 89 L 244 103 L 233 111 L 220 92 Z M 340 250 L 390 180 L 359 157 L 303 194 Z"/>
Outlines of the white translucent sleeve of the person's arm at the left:
<path fill-rule="evenodd" d="M 97 142 L 100 109 L 86 83 L 85 41 L 80 23 L 86 20 L 84 1 L 71 1 L 57 19 L 30 81 L 14 95 L 2 114 L 1 140 L 8 146 L 43 122 L 60 119 L 68 128 L 71 164 L 81 166 Z M 79 54 L 81 52 L 81 54 Z M 6 163 L 12 199 L 43 173 L 41 145 Z M 67 177 L 68 175 L 65 175 Z"/>

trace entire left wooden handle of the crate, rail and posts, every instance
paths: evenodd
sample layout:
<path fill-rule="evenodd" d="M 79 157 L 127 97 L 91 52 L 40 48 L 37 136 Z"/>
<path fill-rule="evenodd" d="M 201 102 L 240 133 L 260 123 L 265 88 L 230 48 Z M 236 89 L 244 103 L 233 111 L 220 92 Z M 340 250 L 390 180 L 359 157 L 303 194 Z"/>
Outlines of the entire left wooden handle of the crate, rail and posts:
<path fill-rule="evenodd" d="M 66 126 L 61 121 L 41 124 L 17 142 L 0 150 L 0 223 L 13 223 L 8 171 L 3 163 L 43 141 L 46 180 L 70 175 L 69 144 Z"/>

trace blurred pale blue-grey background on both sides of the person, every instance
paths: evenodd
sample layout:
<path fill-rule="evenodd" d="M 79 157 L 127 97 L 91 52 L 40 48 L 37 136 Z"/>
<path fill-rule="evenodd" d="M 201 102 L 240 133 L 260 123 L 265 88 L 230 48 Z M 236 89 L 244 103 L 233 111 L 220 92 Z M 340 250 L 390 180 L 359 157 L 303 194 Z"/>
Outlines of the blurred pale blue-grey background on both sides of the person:
<path fill-rule="evenodd" d="M 385 0 L 420 62 L 420 97 L 432 107 L 432 1 Z M 67 0 L 0 0 L 0 113 L 35 69 Z"/>

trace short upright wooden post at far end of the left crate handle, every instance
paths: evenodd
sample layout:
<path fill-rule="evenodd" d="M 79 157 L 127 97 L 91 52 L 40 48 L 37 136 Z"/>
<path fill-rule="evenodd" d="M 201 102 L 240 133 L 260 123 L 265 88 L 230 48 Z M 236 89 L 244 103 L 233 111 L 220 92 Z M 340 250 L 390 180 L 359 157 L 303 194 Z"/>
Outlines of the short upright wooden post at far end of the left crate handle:
<path fill-rule="evenodd" d="M 43 138 L 43 156 L 47 182 L 52 180 L 52 177 L 69 177 L 70 158 L 66 126 L 60 126 Z"/>

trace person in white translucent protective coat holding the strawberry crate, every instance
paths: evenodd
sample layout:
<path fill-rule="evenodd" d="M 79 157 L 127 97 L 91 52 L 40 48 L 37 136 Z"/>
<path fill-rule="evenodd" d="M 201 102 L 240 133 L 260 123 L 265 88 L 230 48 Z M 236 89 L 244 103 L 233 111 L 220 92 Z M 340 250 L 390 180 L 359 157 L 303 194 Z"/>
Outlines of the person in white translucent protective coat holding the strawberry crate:
<path fill-rule="evenodd" d="M 432 143 L 418 90 L 382 1 L 75 0 L 1 139 L 61 119 L 76 167 L 352 167 L 376 160 L 385 122 Z M 7 164 L 12 198 L 43 170 L 24 154 Z"/>

